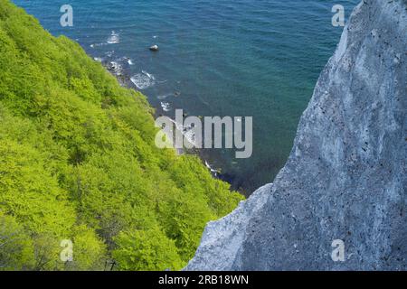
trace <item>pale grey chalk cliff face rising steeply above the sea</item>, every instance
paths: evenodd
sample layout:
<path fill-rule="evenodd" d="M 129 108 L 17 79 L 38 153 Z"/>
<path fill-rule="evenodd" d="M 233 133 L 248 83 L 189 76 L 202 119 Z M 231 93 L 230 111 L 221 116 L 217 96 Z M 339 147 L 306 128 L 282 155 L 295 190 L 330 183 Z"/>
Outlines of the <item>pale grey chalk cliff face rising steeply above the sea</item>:
<path fill-rule="evenodd" d="M 355 8 L 288 163 L 208 224 L 185 270 L 406 269 L 406 29 L 405 0 Z"/>

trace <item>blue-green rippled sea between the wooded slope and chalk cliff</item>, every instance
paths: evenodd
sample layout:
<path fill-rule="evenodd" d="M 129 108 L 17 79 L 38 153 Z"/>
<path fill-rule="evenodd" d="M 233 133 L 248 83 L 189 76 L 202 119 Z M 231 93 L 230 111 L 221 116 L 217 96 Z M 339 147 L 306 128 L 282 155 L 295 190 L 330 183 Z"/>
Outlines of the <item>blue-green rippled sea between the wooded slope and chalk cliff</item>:
<path fill-rule="evenodd" d="M 158 113 L 252 116 L 250 159 L 204 152 L 246 191 L 272 182 L 289 155 L 298 119 L 342 33 L 331 24 L 332 6 L 344 5 L 347 17 L 358 2 L 70 0 L 74 26 L 62 27 L 65 0 L 14 0 L 54 35 L 116 61 Z M 153 44 L 160 51 L 149 51 Z"/>

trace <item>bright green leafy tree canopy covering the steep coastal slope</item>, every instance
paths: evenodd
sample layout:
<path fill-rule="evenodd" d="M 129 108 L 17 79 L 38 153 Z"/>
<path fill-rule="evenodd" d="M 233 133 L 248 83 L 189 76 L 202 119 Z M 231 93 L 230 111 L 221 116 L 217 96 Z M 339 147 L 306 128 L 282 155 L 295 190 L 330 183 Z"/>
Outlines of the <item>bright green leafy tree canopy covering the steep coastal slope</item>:
<path fill-rule="evenodd" d="M 152 113 L 78 43 L 0 0 L 0 269 L 185 266 L 242 197 L 196 156 L 157 149 Z"/>

